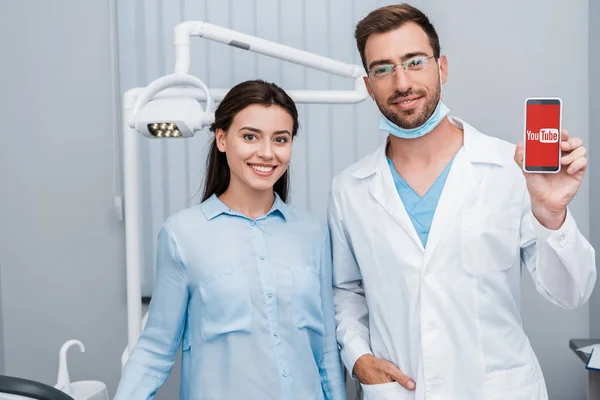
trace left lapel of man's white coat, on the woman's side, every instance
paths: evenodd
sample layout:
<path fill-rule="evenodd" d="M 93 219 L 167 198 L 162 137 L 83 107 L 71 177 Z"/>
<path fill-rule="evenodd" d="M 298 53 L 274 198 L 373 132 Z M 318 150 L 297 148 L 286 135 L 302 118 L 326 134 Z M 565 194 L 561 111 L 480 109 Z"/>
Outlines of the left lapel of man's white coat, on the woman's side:
<path fill-rule="evenodd" d="M 415 245 L 424 251 L 423 244 L 419 239 L 419 235 L 406 212 L 406 208 L 398 195 L 394 178 L 390 171 L 390 167 L 385 158 L 385 152 L 382 153 L 381 159 L 378 160 L 377 173 L 373 176 L 369 186 L 371 195 L 381 204 L 385 211 L 396 221 L 406 234 L 415 242 Z M 400 243 L 395 237 L 392 241 Z"/>

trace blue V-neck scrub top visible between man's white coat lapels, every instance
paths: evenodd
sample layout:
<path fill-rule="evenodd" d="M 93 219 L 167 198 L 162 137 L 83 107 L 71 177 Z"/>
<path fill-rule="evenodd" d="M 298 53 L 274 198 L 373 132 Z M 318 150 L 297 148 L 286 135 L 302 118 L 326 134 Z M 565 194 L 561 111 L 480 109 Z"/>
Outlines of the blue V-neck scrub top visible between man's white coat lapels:
<path fill-rule="evenodd" d="M 398 191 L 398 195 L 404 204 L 404 208 L 419 235 L 419 239 L 421 239 L 421 243 L 423 243 L 423 247 L 426 247 L 427 245 L 431 222 L 433 221 L 435 209 L 437 208 L 440 196 L 442 195 L 442 190 L 444 190 L 444 184 L 446 183 L 446 178 L 448 178 L 448 173 L 450 172 L 453 160 L 454 159 L 452 159 L 446 168 L 444 168 L 427 193 L 421 197 L 400 176 L 398 171 L 396 171 L 396 167 L 394 167 L 392 160 L 387 157 L 396 190 Z"/>

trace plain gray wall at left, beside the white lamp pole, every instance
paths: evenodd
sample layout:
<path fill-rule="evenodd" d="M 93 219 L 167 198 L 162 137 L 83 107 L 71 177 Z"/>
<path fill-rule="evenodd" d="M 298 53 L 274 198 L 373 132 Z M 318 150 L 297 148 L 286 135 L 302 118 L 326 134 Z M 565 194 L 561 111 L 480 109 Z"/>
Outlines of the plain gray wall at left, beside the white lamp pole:
<path fill-rule="evenodd" d="M 0 2 L 0 255 L 6 373 L 111 393 L 126 343 L 123 223 L 112 208 L 109 3 Z"/>

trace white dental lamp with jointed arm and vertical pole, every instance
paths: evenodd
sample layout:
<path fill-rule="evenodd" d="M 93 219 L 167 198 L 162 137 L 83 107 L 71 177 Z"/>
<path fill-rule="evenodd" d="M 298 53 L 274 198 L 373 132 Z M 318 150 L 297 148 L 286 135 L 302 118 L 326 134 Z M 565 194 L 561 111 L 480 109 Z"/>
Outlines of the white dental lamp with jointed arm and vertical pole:
<path fill-rule="evenodd" d="M 175 71 L 123 96 L 123 161 L 125 238 L 127 266 L 128 346 L 121 359 L 124 366 L 145 325 L 141 293 L 141 197 L 139 134 L 152 139 L 182 139 L 214 122 L 214 103 L 223 100 L 227 89 L 209 89 L 188 73 L 190 39 L 203 37 L 329 74 L 354 79 L 354 90 L 287 90 L 296 103 L 355 104 L 368 93 L 360 65 L 347 64 L 314 53 L 222 28 L 206 22 L 186 21 L 175 27 Z M 201 103 L 205 103 L 203 108 Z M 115 206 L 122 214 L 120 198 Z"/>

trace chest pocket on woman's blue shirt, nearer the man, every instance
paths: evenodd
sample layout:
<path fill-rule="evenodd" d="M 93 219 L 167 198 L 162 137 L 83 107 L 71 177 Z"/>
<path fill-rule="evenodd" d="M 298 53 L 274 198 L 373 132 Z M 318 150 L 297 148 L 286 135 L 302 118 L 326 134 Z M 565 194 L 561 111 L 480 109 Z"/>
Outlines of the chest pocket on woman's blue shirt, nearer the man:
<path fill-rule="evenodd" d="M 321 280 L 316 268 L 290 265 L 294 277 L 292 321 L 298 329 L 310 329 L 320 335 L 324 332 L 321 308 Z"/>

